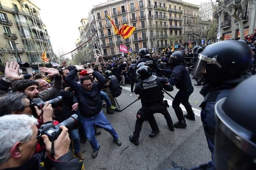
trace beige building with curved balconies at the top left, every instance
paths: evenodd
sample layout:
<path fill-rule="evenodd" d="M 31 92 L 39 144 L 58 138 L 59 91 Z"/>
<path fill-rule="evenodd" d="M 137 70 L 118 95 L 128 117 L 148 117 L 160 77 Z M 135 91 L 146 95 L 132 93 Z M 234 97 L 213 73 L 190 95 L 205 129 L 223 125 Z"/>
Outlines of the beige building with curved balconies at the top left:
<path fill-rule="evenodd" d="M 51 62 L 58 62 L 39 11 L 29 0 L 0 1 L 1 75 L 4 73 L 4 63 L 11 61 L 30 64 L 29 68 L 21 68 L 22 74 L 30 74 L 32 69 L 38 71 L 38 66 L 43 66 L 41 55 L 44 50 Z M 48 62 L 45 64 L 51 67 Z"/>

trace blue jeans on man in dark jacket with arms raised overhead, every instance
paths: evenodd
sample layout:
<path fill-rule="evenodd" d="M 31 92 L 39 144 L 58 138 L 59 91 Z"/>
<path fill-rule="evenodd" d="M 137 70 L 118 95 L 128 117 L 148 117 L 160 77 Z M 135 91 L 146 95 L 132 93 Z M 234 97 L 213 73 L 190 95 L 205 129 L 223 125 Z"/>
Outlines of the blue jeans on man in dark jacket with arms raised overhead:
<path fill-rule="evenodd" d="M 109 132 L 113 136 L 114 140 L 118 139 L 118 134 L 116 133 L 112 125 L 108 122 L 102 110 L 93 117 L 82 117 L 82 118 L 83 118 L 83 126 L 86 134 L 86 138 L 90 142 L 94 151 L 98 150 L 99 148 L 99 143 L 95 138 L 95 130 L 93 127 L 94 124 L 96 124 L 97 126 Z"/>

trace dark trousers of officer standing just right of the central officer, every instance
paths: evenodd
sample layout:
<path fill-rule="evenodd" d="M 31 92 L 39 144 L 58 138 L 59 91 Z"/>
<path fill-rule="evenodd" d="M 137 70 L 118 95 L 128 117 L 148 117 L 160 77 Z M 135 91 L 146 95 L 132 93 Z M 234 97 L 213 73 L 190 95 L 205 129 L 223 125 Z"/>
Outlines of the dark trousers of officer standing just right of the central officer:
<path fill-rule="evenodd" d="M 186 89 L 179 89 L 179 91 L 177 92 L 172 101 L 172 108 L 174 109 L 175 114 L 179 121 L 185 120 L 183 112 L 180 108 L 180 103 L 184 105 L 188 114 L 194 114 L 192 107 L 188 101 L 189 96 L 192 94 L 193 91 L 194 87 L 192 85 L 187 87 Z"/>

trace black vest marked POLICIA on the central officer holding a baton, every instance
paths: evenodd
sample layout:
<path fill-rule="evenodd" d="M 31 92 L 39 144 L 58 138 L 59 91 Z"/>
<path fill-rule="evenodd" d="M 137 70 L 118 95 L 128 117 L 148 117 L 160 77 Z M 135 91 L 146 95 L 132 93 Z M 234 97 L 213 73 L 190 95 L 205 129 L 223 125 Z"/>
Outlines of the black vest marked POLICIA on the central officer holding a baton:
<path fill-rule="evenodd" d="M 143 105 L 150 106 L 152 104 L 160 104 L 164 98 L 164 94 L 162 92 L 163 88 L 158 78 L 152 82 L 140 81 L 140 88 L 141 103 Z"/>

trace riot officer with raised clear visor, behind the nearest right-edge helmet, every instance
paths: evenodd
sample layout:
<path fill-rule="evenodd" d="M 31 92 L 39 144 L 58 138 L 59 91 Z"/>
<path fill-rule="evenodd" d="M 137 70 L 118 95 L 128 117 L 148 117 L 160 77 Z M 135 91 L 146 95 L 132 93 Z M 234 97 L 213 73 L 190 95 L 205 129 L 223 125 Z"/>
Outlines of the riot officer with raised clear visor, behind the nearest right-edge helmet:
<path fill-rule="evenodd" d="M 236 40 L 214 43 L 198 55 L 192 75 L 204 77 L 208 82 L 200 91 L 204 96 L 200 107 L 206 140 L 212 154 L 212 161 L 208 163 L 211 167 L 214 167 L 214 105 L 219 99 L 229 96 L 236 85 L 251 76 L 251 65 L 250 48 Z"/>

